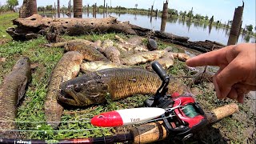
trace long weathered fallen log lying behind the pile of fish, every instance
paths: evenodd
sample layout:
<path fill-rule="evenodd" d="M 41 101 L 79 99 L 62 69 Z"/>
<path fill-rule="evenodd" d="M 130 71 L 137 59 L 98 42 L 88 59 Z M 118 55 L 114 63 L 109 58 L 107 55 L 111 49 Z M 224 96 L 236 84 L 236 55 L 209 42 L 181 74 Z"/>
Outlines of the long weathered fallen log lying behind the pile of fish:
<path fill-rule="evenodd" d="M 15 28 L 8 28 L 6 32 L 14 40 L 27 40 L 27 34 L 46 34 L 50 27 L 58 30 L 59 34 L 80 35 L 90 33 L 117 32 L 124 34 L 136 34 L 140 36 L 151 36 L 156 38 L 167 38 L 179 42 L 187 42 L 188 37 L 180 37 L 174 34 L 153 31 L 130 22 L 120 22 L 117 18 L 44 18 L 34 14 L 29 18 L 17 18 L 13 21 Z"/>

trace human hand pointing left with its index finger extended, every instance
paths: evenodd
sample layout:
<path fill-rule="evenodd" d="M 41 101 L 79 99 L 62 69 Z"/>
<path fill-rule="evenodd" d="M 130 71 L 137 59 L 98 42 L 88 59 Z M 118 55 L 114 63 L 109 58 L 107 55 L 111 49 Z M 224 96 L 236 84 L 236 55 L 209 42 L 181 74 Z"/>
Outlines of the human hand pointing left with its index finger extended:
<path fill-rule="evenodd" d="M 226 46 L 186 61 L 187 66 L 219 66 L 213 82 L 217 97 L 244 101 L 245 94 L 256 90 L 256 44 Z"/>

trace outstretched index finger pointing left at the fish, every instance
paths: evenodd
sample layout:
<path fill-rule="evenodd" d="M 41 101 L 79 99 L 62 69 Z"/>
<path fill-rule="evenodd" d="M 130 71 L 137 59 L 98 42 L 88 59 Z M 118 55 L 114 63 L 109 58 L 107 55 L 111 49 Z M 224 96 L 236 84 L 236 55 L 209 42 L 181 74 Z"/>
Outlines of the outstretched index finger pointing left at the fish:
<path fill-rule="evenodd" d="M 187 66 L 220 66 L 226 61 L 226 51 L 230 51 L 234 46 L 226 46 L 220 50 L 214 50 L 206 54 L 200 54 L 186 61 Z"/>

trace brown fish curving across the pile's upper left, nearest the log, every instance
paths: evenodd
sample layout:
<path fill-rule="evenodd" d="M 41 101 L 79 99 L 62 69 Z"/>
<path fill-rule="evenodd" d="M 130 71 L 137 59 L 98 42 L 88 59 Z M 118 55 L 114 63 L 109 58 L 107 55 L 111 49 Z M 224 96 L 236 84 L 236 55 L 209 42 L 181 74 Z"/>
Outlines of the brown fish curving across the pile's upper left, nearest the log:
<path fill-rule="evenodd" d="M 83 55 L 83 59 L 87 61 L 106 61 L 109 60 L 98 50 L 94 48 L 94 46 L 85 45 L 81 42 L 69 42 L 66 47 L 66 51 L 79 51 Z"/>

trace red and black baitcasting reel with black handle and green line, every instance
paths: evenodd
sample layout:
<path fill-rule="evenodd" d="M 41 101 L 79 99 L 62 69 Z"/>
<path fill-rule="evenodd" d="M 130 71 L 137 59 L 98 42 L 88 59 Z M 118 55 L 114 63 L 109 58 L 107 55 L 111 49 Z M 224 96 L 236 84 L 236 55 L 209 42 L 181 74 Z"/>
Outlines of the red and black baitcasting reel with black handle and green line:
<path fill-rule="evenodd" d="M 207 123 L 205 113 L 195 102 L 192 94 L 166 94 L 170 77 L 158 62 L 152 63 L 153 70 L 162 80 L 156 94 L 146 100 L 146 106 L 160 107 L 166 110 L 162 115 L 164 126 L 170 137 L 190 138 L 192 133 Z"/>

